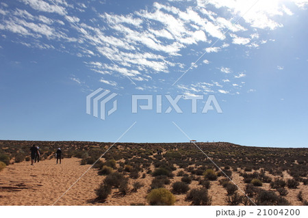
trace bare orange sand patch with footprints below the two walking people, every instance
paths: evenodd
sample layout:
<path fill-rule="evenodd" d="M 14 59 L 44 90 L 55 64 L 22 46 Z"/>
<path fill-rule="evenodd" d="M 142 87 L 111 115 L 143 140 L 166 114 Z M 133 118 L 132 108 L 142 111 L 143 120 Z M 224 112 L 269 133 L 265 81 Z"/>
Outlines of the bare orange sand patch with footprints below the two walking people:
<path fill-rule="evenodd" d="M 52 205 L 90 166 L 79 165 L 79 161 L 64 159 L 61 165 L 56 165 L 55 159 L 51 159 L 34 165 L 29 162 L 8 165 L 0 173 L 0 205 Z M 101 180 L 96 169 L 90 169 L 77 182 L 77 189 L 70 189 L 58 203 L 84 204 L 90 197 L 94 198 L 94 189 Z"/>

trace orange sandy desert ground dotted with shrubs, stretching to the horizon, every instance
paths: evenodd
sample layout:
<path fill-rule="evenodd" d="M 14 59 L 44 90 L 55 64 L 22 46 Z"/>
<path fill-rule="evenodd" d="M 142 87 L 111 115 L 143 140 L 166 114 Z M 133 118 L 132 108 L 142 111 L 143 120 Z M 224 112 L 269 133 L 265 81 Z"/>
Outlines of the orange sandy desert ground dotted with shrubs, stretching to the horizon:
<path fill-rule="evenodd" d="M 307 148 L 196 145 L 0 141 L 0 205 L 307 205 Z M 151 200 L 162 189 L 172 200 Z"/>

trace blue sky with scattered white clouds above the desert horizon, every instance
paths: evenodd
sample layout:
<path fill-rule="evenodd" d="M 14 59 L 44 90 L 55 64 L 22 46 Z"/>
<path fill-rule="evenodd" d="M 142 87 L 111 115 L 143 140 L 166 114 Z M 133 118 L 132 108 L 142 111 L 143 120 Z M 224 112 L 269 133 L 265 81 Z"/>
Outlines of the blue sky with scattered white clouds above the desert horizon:
<path fill-rule="evenodd" d="M 116 141 L 136 122 L 120 141 L 188 141 L 175 122 L 197 141 L 307 147 L 307 8 L 307 0 L 1 1 L 0 139 Z M 99 87 L 118 94 L 105 120 L 86 113 Z M 155 104 L 131 113 L 132 94 L 162 95 L 163 112 L 164 95 L 181 94 L 183 113 L 155 113 Z M 196 95 L 204 100 L 191 113 Z M 223 113 L 201 113 L 209 95 Z"/>

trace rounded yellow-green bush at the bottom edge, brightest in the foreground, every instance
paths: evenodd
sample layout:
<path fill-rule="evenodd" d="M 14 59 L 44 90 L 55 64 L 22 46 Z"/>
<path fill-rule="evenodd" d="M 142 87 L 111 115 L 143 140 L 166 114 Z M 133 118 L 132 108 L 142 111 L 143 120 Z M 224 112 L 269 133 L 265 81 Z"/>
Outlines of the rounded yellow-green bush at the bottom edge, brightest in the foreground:
<path fill-rule="evenodd" d="M 175 196 L 164 188 L 153 189 L 147 196 L 146 200 L 150 205 L 168 206 L 175 204 Z"/>

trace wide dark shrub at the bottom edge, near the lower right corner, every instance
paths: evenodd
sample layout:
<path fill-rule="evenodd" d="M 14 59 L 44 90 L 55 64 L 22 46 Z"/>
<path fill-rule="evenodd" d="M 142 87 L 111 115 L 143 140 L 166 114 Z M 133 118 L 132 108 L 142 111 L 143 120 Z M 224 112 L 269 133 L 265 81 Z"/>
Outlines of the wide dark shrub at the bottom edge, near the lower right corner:
<path fill-rule="evenodd" d="M 287 206 L 290 205 L 290 202 L 284 197 L 277 196 L 273 191 L 266 191 L 261 189 L 255 197 L 256 204 L 259 206 Z"/>

